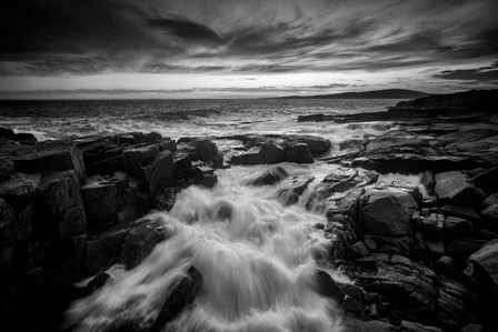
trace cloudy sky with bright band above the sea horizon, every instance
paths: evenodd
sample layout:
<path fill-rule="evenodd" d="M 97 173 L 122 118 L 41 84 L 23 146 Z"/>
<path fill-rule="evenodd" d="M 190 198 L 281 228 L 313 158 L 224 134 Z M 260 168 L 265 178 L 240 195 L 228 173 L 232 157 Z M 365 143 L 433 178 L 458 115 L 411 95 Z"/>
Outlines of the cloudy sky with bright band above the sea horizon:
<path fill-rule="evenodd" d="M 497 0 L 2 0 L 0 99 L 498 87 Z"/>

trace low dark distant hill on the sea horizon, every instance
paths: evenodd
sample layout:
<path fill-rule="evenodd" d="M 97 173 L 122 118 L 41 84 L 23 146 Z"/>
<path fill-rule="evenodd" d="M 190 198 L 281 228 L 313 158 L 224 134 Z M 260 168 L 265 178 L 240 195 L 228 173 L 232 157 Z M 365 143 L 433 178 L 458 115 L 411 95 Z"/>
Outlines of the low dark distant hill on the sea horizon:
<path fill-rule="evenodd" d="M 281 99 L 417 99 L 428 95 L 430 95 L 430 93 L 425 93 L 415 90 L 386 89 L 386 90 L 345 92 L 333 94 L 289 95 L 289 97 L 281 97 Z"/>

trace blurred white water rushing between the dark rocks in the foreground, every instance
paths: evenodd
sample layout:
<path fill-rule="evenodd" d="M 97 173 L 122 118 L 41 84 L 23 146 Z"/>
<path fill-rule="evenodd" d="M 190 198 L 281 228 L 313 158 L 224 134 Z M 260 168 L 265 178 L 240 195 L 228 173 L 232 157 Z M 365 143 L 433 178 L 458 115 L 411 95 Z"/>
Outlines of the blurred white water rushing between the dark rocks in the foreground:
<path fill-rule="evenodd" d="M 309 165 L 282 164 L 291 175 Z M 113 282 L 72 305 L 68 320 L 79 331 L 106 331 L 123 320 L 147 324 L 162 301 L 195 265 L 202 274 L 191 311 L 170 331 L 341 331 L 336 303 L 317 291 L 316 269 L 347 280 L 327 265 L 330 240 L 313 228 L 326 218 L 285 207 L 283 184 L 250 184 L 267 167 L 218 171 L 219 183 L 190 187 L 161 220 L 170 238 L 131 271 L 110 270 Z M 331 165 L 315 165 L 317 180 Z M 303 200 L 306 200 L 306 193 Z"/>

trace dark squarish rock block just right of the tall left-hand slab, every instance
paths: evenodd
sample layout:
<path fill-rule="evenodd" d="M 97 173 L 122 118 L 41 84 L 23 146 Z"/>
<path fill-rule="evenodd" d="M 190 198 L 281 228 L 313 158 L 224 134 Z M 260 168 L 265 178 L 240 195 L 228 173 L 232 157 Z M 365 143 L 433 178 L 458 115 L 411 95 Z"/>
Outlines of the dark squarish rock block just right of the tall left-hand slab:
<path fill-rule="evenodd" d="M 87 179 L 81 188 L 88 221 L 91 228 L 102 229 L 103 225 L 116 223 L 118 210 L 118 184 L 116 181 L 93 175 Z"/>

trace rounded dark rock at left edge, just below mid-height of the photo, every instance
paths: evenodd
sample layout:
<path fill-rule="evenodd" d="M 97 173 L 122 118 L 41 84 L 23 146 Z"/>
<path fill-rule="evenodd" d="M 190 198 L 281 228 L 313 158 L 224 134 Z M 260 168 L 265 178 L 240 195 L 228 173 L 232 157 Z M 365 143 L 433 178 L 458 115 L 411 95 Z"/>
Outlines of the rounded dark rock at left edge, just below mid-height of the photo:
<path fill-rule="evenodd" d="M 24 205 L 37 194 L 40 174 L 16 173 L 9 180 L 0 182 L 0 198 L 12 207 Z"/>

